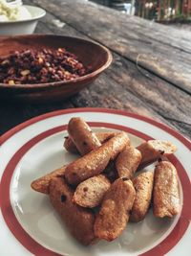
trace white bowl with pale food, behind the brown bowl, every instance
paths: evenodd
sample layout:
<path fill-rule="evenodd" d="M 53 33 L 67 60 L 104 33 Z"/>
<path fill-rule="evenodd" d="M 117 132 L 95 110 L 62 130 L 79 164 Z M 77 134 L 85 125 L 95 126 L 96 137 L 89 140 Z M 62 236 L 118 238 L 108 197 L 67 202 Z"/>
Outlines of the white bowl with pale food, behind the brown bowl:
<path fill-rule="evenodd" d="M 32 14 L 32 18 L 18 21 L 0 21 L 0 35 L 27 35 L 34 32 L 38 20 L 46 12 L 38 7 L 23 6 Z"/>

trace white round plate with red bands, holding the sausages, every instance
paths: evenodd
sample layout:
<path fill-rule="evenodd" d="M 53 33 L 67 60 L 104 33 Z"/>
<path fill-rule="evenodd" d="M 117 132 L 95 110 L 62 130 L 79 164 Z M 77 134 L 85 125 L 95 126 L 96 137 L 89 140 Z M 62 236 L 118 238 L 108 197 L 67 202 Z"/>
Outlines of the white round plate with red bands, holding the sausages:
<path fill-rule="evenodd" d="M 180 215 L 158 220 L 150 211 L 144 221 L 128 223 L 112 243 L 84 247 L 74 241 L 49 198 L 30 186 L 33 179 L 76 157 L 63 149 L 66 125 L 74 116 L 83 117 L 95 130 L 125 130 L 135 146 L 149 138 L 177 145 L 171 161 L 180 177 Z M 173 129 L 124 111 L 77 108 L 42 115 L 13 128 L 0 138 L 0 145 L 0 255 L 189 255 L 191 144 Z"/>

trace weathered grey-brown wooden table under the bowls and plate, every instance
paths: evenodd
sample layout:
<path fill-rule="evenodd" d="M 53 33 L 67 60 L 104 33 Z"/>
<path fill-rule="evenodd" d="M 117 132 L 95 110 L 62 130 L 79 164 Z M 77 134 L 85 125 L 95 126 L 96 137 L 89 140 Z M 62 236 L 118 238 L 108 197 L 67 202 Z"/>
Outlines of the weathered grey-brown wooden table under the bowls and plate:
<path fill-rule="evenodd" d="M 88 38 L 108 47 L 111 67 L 60 103 L 0 103 L 0 134 L 34 116 L 70 107 L 110 107 L 150 116 L 191 138 L 191 34 L 84 0 L 24 1 L 47 15 L 36 33 Z"/>

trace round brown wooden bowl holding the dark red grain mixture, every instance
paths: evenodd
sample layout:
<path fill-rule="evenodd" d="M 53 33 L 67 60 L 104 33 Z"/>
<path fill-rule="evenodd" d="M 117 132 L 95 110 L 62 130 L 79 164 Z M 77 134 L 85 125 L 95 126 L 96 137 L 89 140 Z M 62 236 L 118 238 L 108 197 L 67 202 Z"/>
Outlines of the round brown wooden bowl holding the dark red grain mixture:
<path fill-rule="evenodd" d="M 23 49 L 66 48 L 93 72 L 71 81 L 55 81 L 37 84 L 0 83 L 0 99 L 22 102 L 53 102 L 67 98 L 87 84 L 95 81 L 112 62 L 108 49 L 92 41 L 61 35 L 14 35 L 0 37 L 0 57 Z"/>

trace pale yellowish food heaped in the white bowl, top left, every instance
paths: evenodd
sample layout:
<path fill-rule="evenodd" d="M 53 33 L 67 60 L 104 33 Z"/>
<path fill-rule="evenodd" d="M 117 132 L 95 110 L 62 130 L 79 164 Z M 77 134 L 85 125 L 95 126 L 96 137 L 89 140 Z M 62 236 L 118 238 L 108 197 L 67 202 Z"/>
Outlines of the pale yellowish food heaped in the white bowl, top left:
<path fill-rule="evenodd" d="M 26 20 L 32 18 L 32 14 L 20 3 L 0 0 L 0 22 Z"/>

